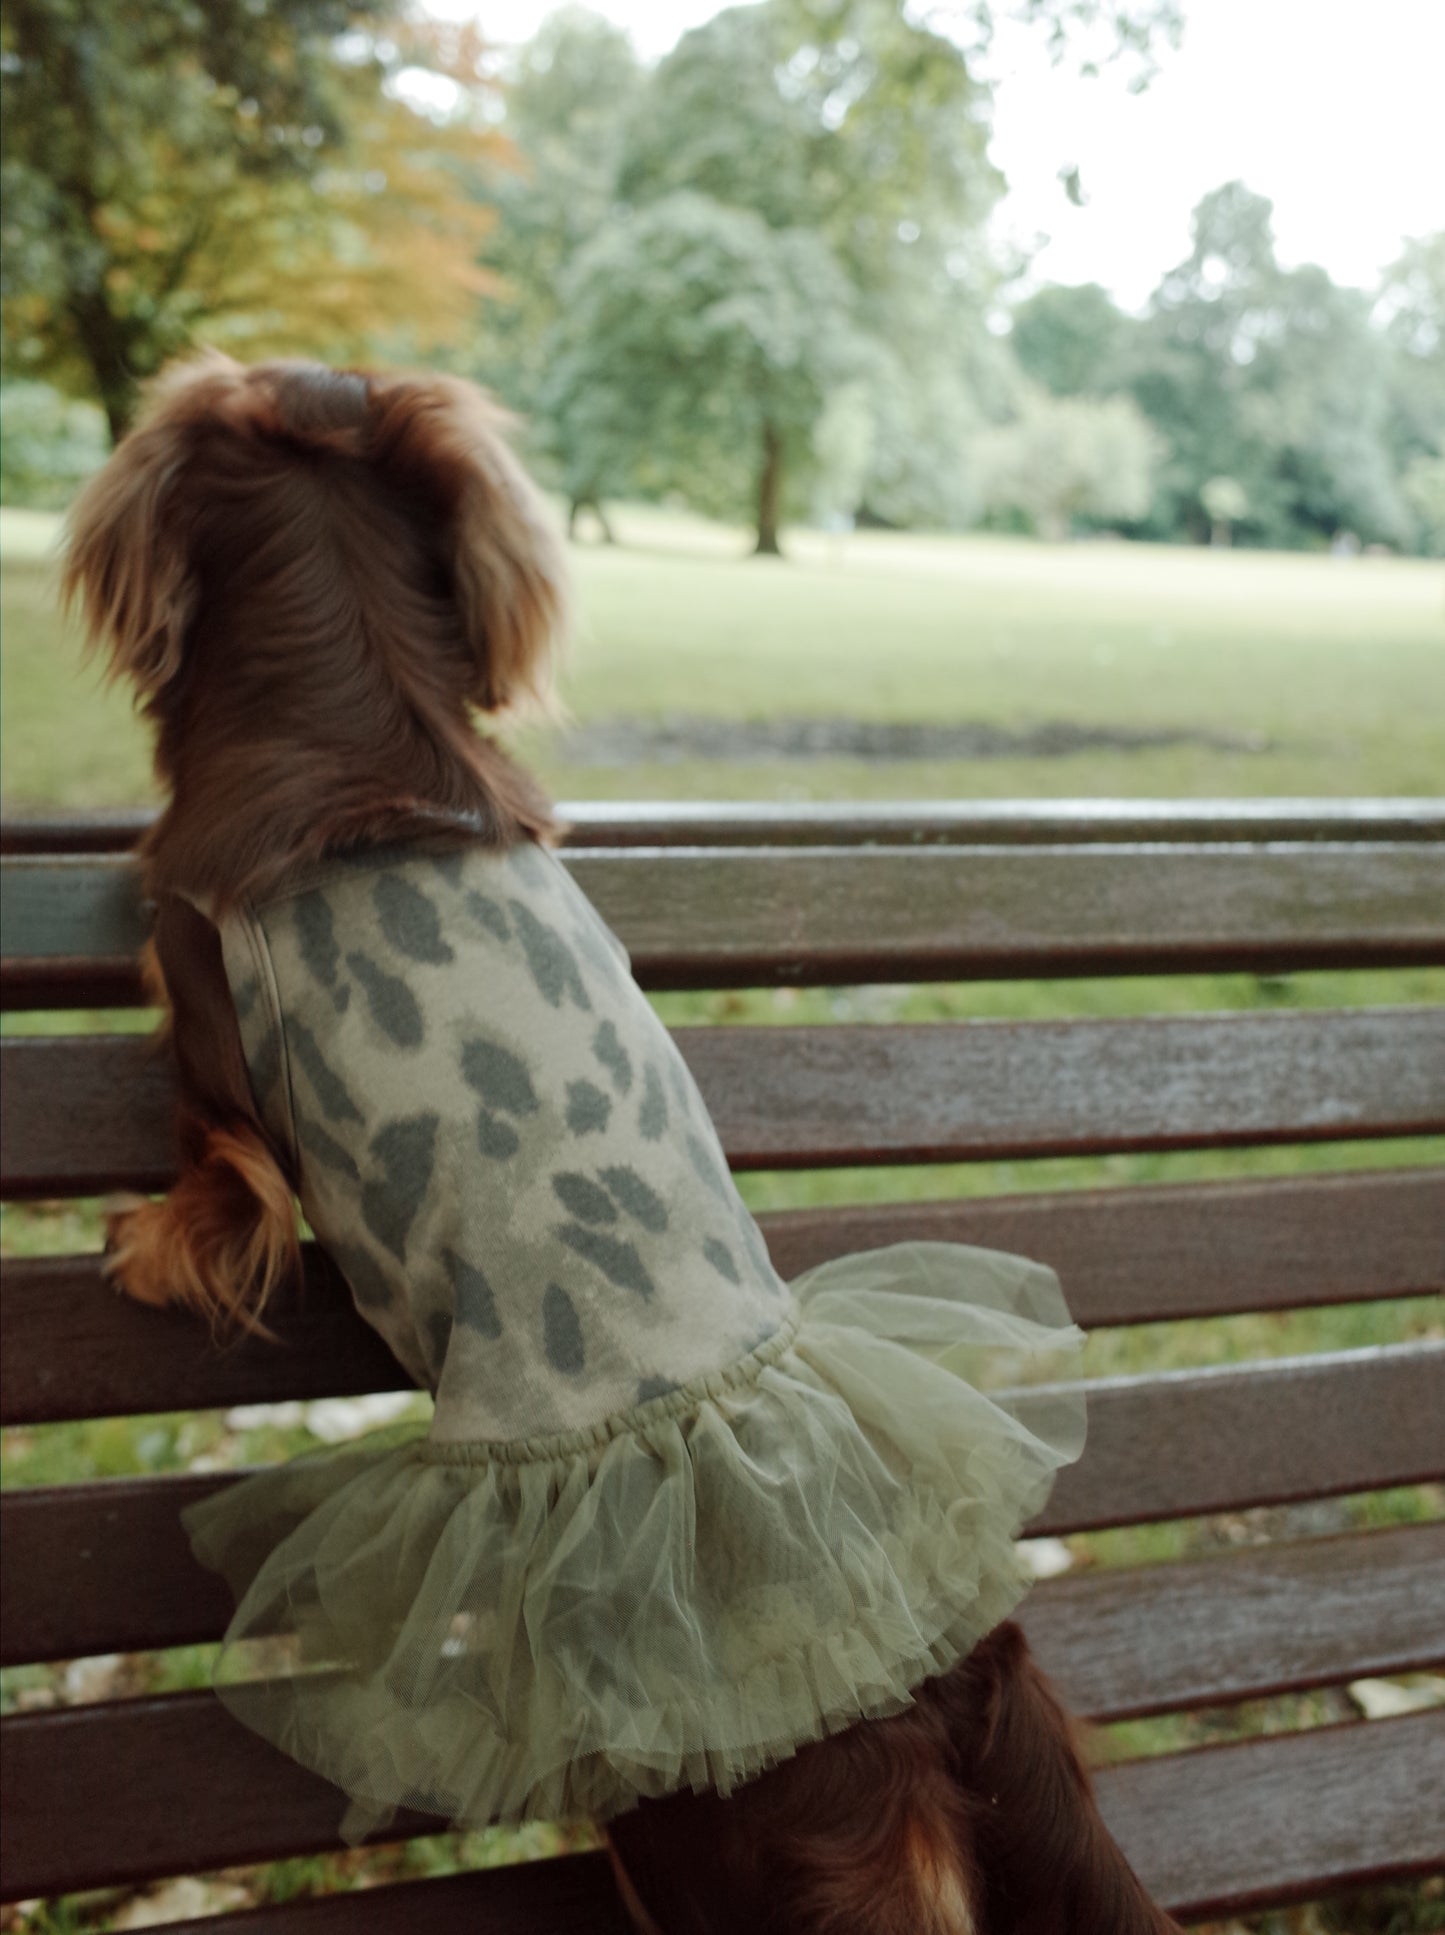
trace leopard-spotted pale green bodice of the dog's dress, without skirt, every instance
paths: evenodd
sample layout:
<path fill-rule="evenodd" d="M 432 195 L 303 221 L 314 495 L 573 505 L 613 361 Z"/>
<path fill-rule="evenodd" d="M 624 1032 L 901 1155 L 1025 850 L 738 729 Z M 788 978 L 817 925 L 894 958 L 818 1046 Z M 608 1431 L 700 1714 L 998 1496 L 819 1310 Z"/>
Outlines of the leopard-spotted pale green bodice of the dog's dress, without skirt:
<path fill-rule="evenodd" d="M 340 861 L 222 946 L 261 1118 L 433 1440 L 604 1422 L 785 1322 L 693 1076 L 551 853 Z"/>

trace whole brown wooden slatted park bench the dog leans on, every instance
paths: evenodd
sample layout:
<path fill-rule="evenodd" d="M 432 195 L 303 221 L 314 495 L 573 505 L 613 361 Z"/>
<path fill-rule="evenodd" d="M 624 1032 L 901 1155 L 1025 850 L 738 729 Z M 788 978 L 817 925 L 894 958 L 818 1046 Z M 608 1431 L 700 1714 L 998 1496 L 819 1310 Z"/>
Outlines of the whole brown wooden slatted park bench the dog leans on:
<path fill-rule="evenodd" d="M 135 817 L 12 826 L 4 1000 L 139 1000 Z M 1445 803 L 576 813 L 567 849 L 650 989 L 1066 979 L 1445 964 Z M 861 1002 L 867 1010 L 869 1002 Z M 679 1031 L 739 1171 L 1226 1149 L 1445 1130 L 1445 1008 Z M 10 1037 L 4 1192 L 159 1190 L 170 1076 L 135 1035 Z M 1445 1169 L 1412 1167 L 764 1217 L 785 1277 L 913 1236 L 1054 1264 L 1085 1327 L 1445 1289 Z M 404 1380 L 319 1256 L 282 1345 L 217 1351 L 97 1256 L 4 1271 L 4 1422 L 389 1391 Z M 1120 1376 L 1033 1529 L 1068 1534 L 1445 1474 L 1445 1341 Z M 180 1531 L 215 1473 L 12 1490 L 4 1658 L 213 1641 L 228 1604 Z M 1076 1711 L 1228 1707 L 1445 1662 L 1445 1525 L 1331 1507 L 1244 1542 L 1041 1583 L 1025 1625 Z M 1321 1523 L 1317 1515 L 1315 1525 Z M 1267 1529 L 1281 1531 L 1263 1542 Z M 1344 1711 L 1342 1707 L 1339 1711 Z M 1275 1712 L 1271 1726 L 1284 1724 Z M 52 1896 L 339 1846 L 339 1796 L 209 1693 L 23 1711 L 4 1740 L 4 1894 Z M 1130 1860 L 1184 1920 L 1445 1865 L 1445 1711 L 1110 1765 Z M 391 1838 L 435 1831 L 408 1817 Z M 600 1854 L 182 1923 L 213 1935 L 621 1931 Z"/>

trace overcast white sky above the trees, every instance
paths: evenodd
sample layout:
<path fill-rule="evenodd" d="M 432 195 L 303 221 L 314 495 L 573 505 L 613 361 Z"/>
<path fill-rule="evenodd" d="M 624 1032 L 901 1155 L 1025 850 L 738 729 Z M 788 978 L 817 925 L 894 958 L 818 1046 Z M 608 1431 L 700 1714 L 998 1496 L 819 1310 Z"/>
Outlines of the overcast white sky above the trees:
<path fill-rule="evenodd" d="M 487 39 L 528 39 L 551 0 L 428 0 Z M 718 0 L 594 0 L 654 58 Z M 1033 275 L 1103 283 L 1137 308 L 1190 248 L 1190 209 L 1240 176 L 1275 203 L 1288 265 L 1368 286 L 1404 236 L 1445 228 L 1445 0 L 1186 0 L 1184 45 L 1147 93 L 1050 70 L 1004 27 L 992 157 L 1000 238 L 1048 238 Z M 1081 172 L 1076 209 L 1060 166 Z"/>

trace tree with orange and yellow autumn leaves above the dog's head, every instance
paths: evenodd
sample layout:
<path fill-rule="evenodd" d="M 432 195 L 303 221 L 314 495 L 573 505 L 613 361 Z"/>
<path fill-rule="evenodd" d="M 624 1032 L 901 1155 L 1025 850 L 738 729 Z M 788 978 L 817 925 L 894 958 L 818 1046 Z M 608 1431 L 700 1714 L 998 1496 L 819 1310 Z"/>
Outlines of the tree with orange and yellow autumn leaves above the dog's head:
<path fill-rule="evenodd" d="M 486 286 L 489 217 L 458 192 L 497 149 L 480 45 L 381 31 L 389 6 L 8 0 L 6 372 L 99 399 L 120 435 L 137 379 L 201 329 L 335 352 L 455 321 Z M 449 116 L 408 104 L 418 68 Z"/>

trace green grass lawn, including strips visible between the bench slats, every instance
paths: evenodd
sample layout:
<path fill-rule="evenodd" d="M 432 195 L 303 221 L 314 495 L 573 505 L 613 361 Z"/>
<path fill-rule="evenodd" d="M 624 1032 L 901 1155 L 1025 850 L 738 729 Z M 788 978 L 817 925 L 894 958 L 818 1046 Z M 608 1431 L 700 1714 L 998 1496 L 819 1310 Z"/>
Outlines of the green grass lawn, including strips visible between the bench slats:
<path fill-rule="evenodd" d="M 1445 571 L 1399 559 L 1284 557 L 1151 550 L 1122 544 L 1039 546 L 996 538 L 799 532 L 789 557 L 752 561 L 739 532 L 667 511 L 623 509 L 615 550 L 573 551 L 578 625 L 563 695 L 578 728 L 609 720 L 706 716 L 853 718 L 977 724 L 1027 733 L 1068 724 L 1112 733 L 1176 731 L 1174 745 L 1091 747 L 1068 757 L 867 762 L 845 759 L 642 760 L 582 764 L 567 728 L 532 729 L 520 745 L 565 799 L 841 799 L 841 797 L 1252 797 L 1445 791 Z M 85 664 L 54 608 L 46 561 L 56 522 L 0 513 L 4 799 L 91 807 L 153 797 L 145 731 L 128 697 Z M 1197 737 L 1188 737 L 1197 735 Z M 1209 743 L 1209 741 L 1226 743 Z M 961 1020 L 1122 1016 L 1205 1008 L 1356 1006 L 1445 1000 L 1445 971 L 1406 969 L 1259 979 L 1093 979 L 948 987 L 739 991 L 669 995 L 669 1022 Z M 56 1026 L 60 1018 L 19 1026 Z M 87 1018 L 128 1026 L 133 1018 Z M 12 1024 L 14 1026 L 14 1024 Z M 1439 1142 L 1308 1149 L 1176 1151 L 932 1169 L 756 1175 L 754 1207 L 805 1202 L 942 1198 L 1033 1188 L 1360 1169 L 1445 1159 Z M 6 1254 L 89 1248 L 93 1204 L 10 1209 Z M 1350 1349 L 1441 1333 L 1424 1298 L 1286 1312 L 1209 1324 L 1103 1331 L 1093 1374 Z M 6 1434 L 4 1482 L 232 1465 L 313 1442 L 304 1420 L 240 1424 L 221 1414 L 126 1418 Z M 1437 1490 L 1325 1502 L 1286 1533 L 1437 1513 Z M 1317 1513 L 1317 1521 L 1308 1513 Z M 1281 1531 L 1281 1515 L 1228 1523 L 1134 1527 L 1070 1540 L 1076 1562 L 1143 1563 Z M 124 1662 L 112 1693 L 201 1683 L 209 1649 Z M 0 1682 L 4 1703 L 66 1699 L 64 1668 L 23 1668 Z M 1348 1711 L 1342 1691 L 1252 1703 L 1223 1716 L 1137 1722 L 1105 1751 L 1163 1751 L 1230 1732 L 1312 1724 Z M 280 1900 L 319 1885 L 426 1873 L 518 1858 L 532 1842 L 472 1836 L 416 1842 L 406 1856 L 358 1854 L 279 1863 L 232 1877 L 248 1898 Z M 402 1861 L 404 1865 L 395 1865 Z M 391 1865 L 387 1865 L 391 1863 Z M 1445 1896 L 1391 1890 L 1344 1908 L 1250 1923 L 1315 1935 L 1327 1927 L 1445 1925 Z M 1430 1920 L 1439 1916 L 1439 1920 Z M 8 1927 L 10 1923 L 4 1923 Z M 103 1910 L 41 1910 L 46 1935 L 103 1925 Z M 1236 1923 L 1236 1927 L 1242 1927 Z"/>

